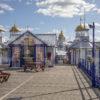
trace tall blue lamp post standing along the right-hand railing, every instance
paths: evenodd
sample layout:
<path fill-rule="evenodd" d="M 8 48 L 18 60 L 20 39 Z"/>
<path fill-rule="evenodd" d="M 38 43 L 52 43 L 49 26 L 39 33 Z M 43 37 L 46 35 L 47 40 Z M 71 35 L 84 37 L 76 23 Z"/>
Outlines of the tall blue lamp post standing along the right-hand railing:
<path fill-rule="evenodd" d="M 93 58 L 93 62 L 92 62 L 92 68 L 91 68 L 91 72 L 92 72 L 92 86 L 93 87 L 96 87 L 96 80 L 95 80 L 95 73 L 96 73 L 96 70 L 95 70 L 95 23 L 93 22 L 93 25 L 89 25 L 90 28 L 93 29 L 93 41 L 92 41 L 92 44 L 93 44 L 93 47 L 92 47 L 92 58 Z"/>

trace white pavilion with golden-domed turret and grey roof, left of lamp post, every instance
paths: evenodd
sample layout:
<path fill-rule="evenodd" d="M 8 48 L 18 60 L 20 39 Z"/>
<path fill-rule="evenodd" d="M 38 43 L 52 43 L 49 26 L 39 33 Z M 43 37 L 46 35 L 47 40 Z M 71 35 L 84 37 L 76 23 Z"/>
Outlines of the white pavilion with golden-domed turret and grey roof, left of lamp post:
<path fill-rule="evenodd" d="M 80 24 L 76 27 L 75 40 L 70 45 L 70 63 L 78 64 L 80 60 L 86 59 L 86 51 L 91 49 L 89 41 L 89 28 Z"/>

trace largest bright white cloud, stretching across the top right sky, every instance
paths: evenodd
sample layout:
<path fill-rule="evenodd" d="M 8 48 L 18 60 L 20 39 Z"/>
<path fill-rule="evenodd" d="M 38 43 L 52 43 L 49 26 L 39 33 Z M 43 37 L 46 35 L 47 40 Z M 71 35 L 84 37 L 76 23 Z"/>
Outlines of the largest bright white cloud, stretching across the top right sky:
<path fill-rule="evenodd" d="M 36 2 L 36 6 L 39 7 L 37 13 L 59 17 L 82 15 L 83 8 L 86 12 L 99 10 L 95 4 L 85 0 L 41 0 Z"/>

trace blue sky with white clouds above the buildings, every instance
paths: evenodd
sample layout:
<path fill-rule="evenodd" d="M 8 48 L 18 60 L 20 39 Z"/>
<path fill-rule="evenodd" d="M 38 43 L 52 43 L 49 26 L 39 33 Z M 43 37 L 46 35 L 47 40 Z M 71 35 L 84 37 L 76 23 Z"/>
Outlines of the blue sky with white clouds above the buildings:
<path fill-rule="evenodd" d="M 95 22 L 96 39 L 100 40 L 100 0 L 0 0 L 0 27 L 6 29 L 5 39 L 10 27 L 16 24 L 33 33 L 63 30 L 70 40 L 75 36 L 84 8 L 86 23 Z"/>

